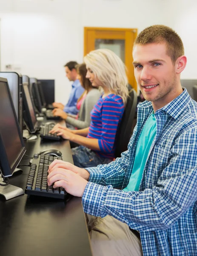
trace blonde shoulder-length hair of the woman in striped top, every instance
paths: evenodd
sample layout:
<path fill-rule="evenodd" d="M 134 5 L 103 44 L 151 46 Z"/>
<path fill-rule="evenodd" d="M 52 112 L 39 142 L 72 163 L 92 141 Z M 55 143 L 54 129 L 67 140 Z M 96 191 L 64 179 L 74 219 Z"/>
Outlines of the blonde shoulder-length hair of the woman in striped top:
<path fill-rule="evenodd" d="M 90 68 L 94 76 L 123 99 L 126 105 L 128 96 L 128 79 L 123 61 L 111 50 L 97 49 L 84 57 L 86 67 Z"/>

